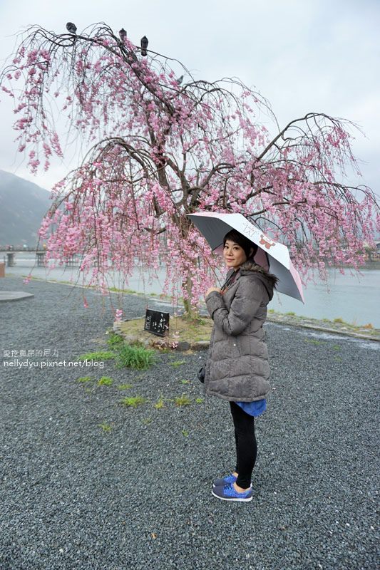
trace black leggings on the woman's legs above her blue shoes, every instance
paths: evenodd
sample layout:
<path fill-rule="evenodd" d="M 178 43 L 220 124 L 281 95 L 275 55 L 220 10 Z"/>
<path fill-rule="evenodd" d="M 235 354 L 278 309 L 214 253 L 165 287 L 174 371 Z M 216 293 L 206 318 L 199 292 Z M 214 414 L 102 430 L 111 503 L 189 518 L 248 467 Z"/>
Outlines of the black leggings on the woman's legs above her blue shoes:
<path fill-rule="evenodd" d="M 235 402 L 230 402 L 230 408 L 235 426 L 236 472 L 238 473 L 236 484 L 243 489 L 248 489 L 257 456 L 255 418 L 242 410 Z"/>

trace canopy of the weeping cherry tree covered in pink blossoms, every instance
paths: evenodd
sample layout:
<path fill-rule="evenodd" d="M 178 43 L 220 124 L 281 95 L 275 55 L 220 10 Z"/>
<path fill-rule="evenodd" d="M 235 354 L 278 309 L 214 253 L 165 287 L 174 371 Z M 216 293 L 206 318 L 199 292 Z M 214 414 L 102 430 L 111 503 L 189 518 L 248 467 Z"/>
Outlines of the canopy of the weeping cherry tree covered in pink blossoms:
<path fill-rule="evenodd" d="M 128 281 L 136 260 L 151 271 L 163 263 L 165 289 L 183 295 L 189 312 L 220 265 L 192 212 L 251 217 L 289 246 L 304 275 L 364 261 L 379 207 L 345 176 L 347 167 L 358 172 L 352 123 L 307 113 L 280 127 L 238 79 L 196 79 L 172 58 L 143 53 L 106 24 L 80 34 L 32 26 L 2 73 L 31 172 L 63 157 L 65 137 L 89 147 L 53 187 L 40 232 L 49 259 L 81 254 L 83 275 L 102 290 L 111 268 Z"/>

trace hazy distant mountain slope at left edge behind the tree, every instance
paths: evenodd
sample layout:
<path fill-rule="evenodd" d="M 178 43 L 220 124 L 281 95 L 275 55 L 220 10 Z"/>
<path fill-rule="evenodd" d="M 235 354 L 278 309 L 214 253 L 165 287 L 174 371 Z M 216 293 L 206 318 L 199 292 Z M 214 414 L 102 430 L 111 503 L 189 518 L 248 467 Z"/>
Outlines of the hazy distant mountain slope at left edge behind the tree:
<path fill-rule="evenodd" d="M 49 196 L 33 182 L 0 170 L 0 245 L 36 246 Z"/>

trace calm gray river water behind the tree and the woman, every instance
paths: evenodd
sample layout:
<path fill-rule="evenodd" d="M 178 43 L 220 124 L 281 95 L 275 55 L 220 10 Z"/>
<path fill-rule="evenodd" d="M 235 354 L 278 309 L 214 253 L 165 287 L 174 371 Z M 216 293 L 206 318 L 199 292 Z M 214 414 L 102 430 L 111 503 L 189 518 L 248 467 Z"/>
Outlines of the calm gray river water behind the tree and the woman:
<path fill-rule="evenodd" d="M 6 267 L 6 275 L 29 274 L 34 265 L 34 254 L 16 253 L 16 266 Z M 379 264 L 374 264 L 379 268 Z M 43 279 L 76 281 L 77 268 L 58 268 L 47 272 L 43 267 L 35 267 L 32 274 Z M 120 282 L 118 275 L 110 274 L 108 285 L 118 289 L 133 289 L 145 294 L 163 293 L 165 270 L 160 269 L 156 279 L 149 284 L 146 275 L 138 270 L 130 277 L 128 284 Z M 81 281 L 79 281 L 81 282 Z M 217 285 L 217 284 L 216 284 Z M 24 287 L 24 286 L 23 286 Z M 366 266 L 360 274 L 350 274 L 347 269 L 342 275 L 337 270 L 329 271 L 327 283 L 310 282 L 304 288 L 305 304 L 286 295 L 274 294 L 268 308 L 281 313 L 293 311 L 296 315 L 312 318 L 342 318 L 348 323 L 365 325 L 371 323 L 380 328 L 380 269 Z"/>

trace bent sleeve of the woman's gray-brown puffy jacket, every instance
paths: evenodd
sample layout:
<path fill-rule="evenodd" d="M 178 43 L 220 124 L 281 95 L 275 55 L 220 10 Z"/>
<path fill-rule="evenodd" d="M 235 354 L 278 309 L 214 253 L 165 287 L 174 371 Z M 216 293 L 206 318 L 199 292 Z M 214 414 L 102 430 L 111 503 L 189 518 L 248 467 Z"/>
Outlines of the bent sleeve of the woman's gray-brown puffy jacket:
<path fill-rule="evenodd" d="M 242 333 L 255 317 L 264 298 L 264 289 L 258 279 L 240 277 L 230 311 L 225 306 L 223 296 L 212 291 L 206 297 L 206 306 L 215 326 L 222 328 L 230 336 Z"/>

